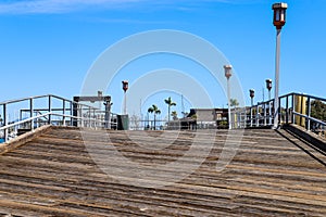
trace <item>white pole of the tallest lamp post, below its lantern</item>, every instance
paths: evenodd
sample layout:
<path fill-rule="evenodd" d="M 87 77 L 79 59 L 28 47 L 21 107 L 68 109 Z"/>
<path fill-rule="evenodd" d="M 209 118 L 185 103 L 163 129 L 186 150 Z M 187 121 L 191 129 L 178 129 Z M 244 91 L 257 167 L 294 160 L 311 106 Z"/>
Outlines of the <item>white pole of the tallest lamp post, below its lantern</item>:
<path fill-rule="evenodd" d="M 277 29 L 276 36 L 276 63 L 275 63 L 275 98 L 274 98 L 274 129 L 278 128 L 279 124 L 279 101 L 278 101 L 278 85 L 279 85 L 279 50 L 280 50 L 280 29 Z"/>

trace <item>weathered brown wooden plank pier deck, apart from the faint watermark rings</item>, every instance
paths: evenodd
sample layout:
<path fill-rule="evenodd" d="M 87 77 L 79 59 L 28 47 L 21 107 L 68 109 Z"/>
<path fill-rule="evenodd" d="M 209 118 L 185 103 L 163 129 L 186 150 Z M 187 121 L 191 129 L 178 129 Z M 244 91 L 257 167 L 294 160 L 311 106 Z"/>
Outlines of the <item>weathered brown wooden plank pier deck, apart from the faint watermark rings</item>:
<path fill-rule="evenodd" d="M 156 151 L 133 143 L 123 131 L 109 133 L 134 162 L 164 164 L 183 156 L 195 133 L 204 132 L 183 131 L 172 145 Z M 0 155 L 0 216 L 326 216 L 325 153 L 285 130 L 246 130 L 236 156 L 218 173 L 226 133 L 217 131 L 209 157 L 190 176 L 150 188 L 108 177 L 77 128 L 51 127 Z M 99 151 L 105 145 L 97 142 Z M 189 164 L 192 159 L 187 158 Z"/>

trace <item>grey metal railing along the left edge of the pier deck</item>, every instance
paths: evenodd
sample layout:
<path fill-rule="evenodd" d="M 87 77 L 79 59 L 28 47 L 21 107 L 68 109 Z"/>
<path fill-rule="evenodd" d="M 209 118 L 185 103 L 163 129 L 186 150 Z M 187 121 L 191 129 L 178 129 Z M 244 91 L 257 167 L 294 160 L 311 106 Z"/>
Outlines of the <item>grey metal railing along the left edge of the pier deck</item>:
<path fill-rule="evenodd" d="M 8 141 L 22 130 L 29 131 L 43 125 L 89 128 L 116 125 L 105 120 L 103 113 L 99 107 L 53 94 L 11 100 L 0 103 L 0 132 L 3 140 Z"/>

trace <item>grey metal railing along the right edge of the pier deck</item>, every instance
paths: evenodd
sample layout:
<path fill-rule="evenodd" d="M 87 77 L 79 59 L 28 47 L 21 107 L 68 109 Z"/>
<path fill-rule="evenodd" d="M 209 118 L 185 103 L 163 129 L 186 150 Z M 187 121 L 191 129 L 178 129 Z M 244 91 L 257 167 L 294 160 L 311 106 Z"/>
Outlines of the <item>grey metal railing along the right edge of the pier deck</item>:
<path fill-rule="evenodd" d="M 279 119 L 277 122 L 279 125 L 296 124 L 309 131 L 325 136 L 326 99 L 292 92 L 279 97 L 278 100 Z M 239 111 L 233 111 L 231 123 L 234 128 L 268 127 L 275 122 L 274 99 L 248 106 L 240 110 L 240 112 L 241 114 L 239 114 Z M 235 120 L 235 115 L 241 116 L 241 118 Z M 241 123 L 241 125 L 237 123 Z"/>

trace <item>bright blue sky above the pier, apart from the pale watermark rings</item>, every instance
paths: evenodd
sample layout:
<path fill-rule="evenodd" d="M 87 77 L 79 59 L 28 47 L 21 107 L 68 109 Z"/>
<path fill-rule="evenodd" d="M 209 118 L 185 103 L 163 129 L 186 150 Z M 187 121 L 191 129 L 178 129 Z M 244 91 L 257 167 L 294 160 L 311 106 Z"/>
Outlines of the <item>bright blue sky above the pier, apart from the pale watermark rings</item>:
<path fill-rule="evenodd" d="M 325 98 L 326 4 L 324 0 L 288 0 L 287 24 L 281 35 L 280 94 L 304 92 Z M 0 101 L 53 93 L 72 99 L 78 95 L 87 72 L 110 46 L 130 35 L 155 29 L 176 29 L 193 34 L 215 46 L 233 64 L 246 101 L 249 89 L 262 100 L 265 79 L 274 80 L 275 35 L 269 0 L 2 0 L 0 1 Z M 164 62 L 165 61 L 165 62 Z M 174 63 L 171 64 L 171 62 Z M 155 56 L 141 66 L 141 60 L 117 78 L 135 80 L 149 69 L 179 64 L 195 79 L 203 79 L 200 68 L 178 58 Z M 110 64 L 110 63 L 109 63 Z M 196 68 L 196 69 L 193 69 Z M 226 106 L 221 87 L 210 84 L 214 106 Z M 116 80 L 115 86 L 121 87 Z M 189 87 L 191 89 L 191 87 Z M 274 89 L 274 87 L 273 87 Z M 111 94 L 113 110 L 121 111 L 121 88 Z M 156 103 L 165 113 L 158 93 L 139 99 Z M 265 91 L 265 99 L 267 98 Z M 160 104 L 162 103 L 162 104 Z M 185 100 L 186 108 L 191 102 Z M 205 106 L 205 105 L 203 105 Z M 136 113 L 139 108 L 128 108 Z"/>

